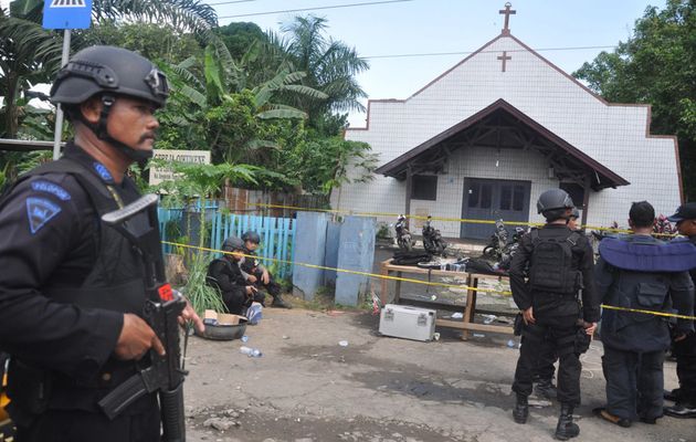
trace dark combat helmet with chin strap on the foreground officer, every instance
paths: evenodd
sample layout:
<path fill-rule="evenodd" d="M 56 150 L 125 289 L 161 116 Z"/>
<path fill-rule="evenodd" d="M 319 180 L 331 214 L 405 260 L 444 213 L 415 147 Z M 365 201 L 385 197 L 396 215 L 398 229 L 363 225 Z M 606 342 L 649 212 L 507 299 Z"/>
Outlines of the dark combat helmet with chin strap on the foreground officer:
<path fill-rule="evenodd" d="M 104 107 L 99 122 L 94 125 L 86 122 L 75 106 L 98 94 Z M 106 120 L 118 96 L 145 99 L 157 108 L 162 107 L 169 96 L 167 76 L 135 52 L 115 46 L 91 46 L 72 56 L 59 71 L 51 87 L 51 102 L 62 104 L 71 118 L 84 123 L 99 139 L 114 145 L 133 160 L 150 158 L 151 151 L 135 150 L 108 135 Z"/>

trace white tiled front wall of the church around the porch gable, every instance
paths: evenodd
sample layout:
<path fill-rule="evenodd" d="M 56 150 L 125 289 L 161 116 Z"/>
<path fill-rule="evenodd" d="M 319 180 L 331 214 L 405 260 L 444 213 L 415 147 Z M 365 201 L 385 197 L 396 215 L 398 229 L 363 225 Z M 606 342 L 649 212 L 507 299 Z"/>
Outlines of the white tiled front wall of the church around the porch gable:
<path fill-rule="evenodd" d="M 502 51 L 513 57 L 506 72 L 497 60 Z M 371 102 L 369 130 L 348 130 L 346 138 L 369 143 L 386 164 L 499 98 L 631 182 L 591 193 L 590 224 L 615 220 L 625 225 L 632 201 L 648 200 L 658 213 L 678 206 L 675 145 L 671 138 L 645 136 L 647 107 L 602 103 L 512 38 L 494 41 L 403 102 Z M 547 177 L 548 165 L 535 154 L 504 149 L 496 168 L 495 157 L 494 149 L 457 151 L 437 181 L 437 201 L 413 200 L 412 212 L 422 208 L 433 215 L 460 218 L 465 177 L 519 179 L 531 181 L 530 220 L 538 221 L 536 198 L 558 187 Z M 370 183 L 345 186 L 340 208 L 401 212 L 404 198 L 404 182 L 380 176 Z M 331 201 L 337 207 L 337 192 Z M 441 229 L 456 236 L 458 225 L 452 224 Z"/>

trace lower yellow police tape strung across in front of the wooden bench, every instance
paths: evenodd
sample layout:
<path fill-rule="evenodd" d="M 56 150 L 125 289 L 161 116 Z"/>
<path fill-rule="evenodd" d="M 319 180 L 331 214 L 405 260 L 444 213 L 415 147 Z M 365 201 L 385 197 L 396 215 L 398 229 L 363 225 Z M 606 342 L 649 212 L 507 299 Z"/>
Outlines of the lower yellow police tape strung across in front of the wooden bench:
<path fill-rule="evenodd" d="M 168 245 L 173 245 L 173 246 L 184 248 L 184 249 L 194 249 L 194 250 L 200 250 L 200 251 L 203 251 L 203 252 L 221 253 L 221 254 L 224 254 L 224 255 L 231 255 L 232 254 L 232 252 L 224 252 L 222 250 L 210 249 L 210 248 L 201 248 L 199 245 L 181 244 L 181 243 L 170 242 L 170 241 L 162 241 L 162 244 L 168 244 Z M 503 296 L 512 296 L 513 295 L 513 292 L 510 292 L 510 291 L 499 291 L 499 290 L 496 290 L 496 288 L 484 288 L 484 287 L 472 287 L 472 286 L 468 286 L 466 284 L 437 283 L 437 282 L 432 282 L 432 281 L 415 280 L 415 278 L 411 278 L 411 277 L 382 275 L 382 274 L 370 273 L 370 272 L 360 272 L 360 271 L 356 271 L 356 270 L 329 267 L 329 266 L 326 266 L 326 265 L 298 263 L 298 262 L 295 262 L 295 261 L 281 260 L 281 259 L 277 259 L 277 257 L 262 257 L 262 256 L 251 255 L 251 254 L 246 254 L 246 253 L 235 253 L 235 254 L 242 255 L 244 257 L 261 259 L 261 260 L 264 260 L 264 261 L 272 261 L 272 262 L 276 262 L 276 263 L 300 265 L 303 267 L 308 267 L 308 269 L 328 270 L 328 271 L 331 271 L 331 272 L 340 272 L 340 273 L 348 273 L 348 274 L 352 274 L 352 275 L 377 277 L 377 278 L 381 278 L 381 280 L 401 281 L 401 282 L 405 282 L 405 283 L 422 284 L 422 285 L 445 287 L 445 288 L 457 288 L 457 290 L 475 291 L 477 293 L 478 292 L 494 293 L 494 294 L 498 294 L 498 295 L 503 295 Z M 466 273 L 462 272 L 462 274 L 466 274 Z M 491 276 L 495 277 L 495 276 L 504 276 L 504 275 L 491 275 Z M 620 311 L 620 312 L 642 313 L 642 314 L 645 314 L 645 315 L 654 315 L 654 316 L 662 316 L 662 317 L 673 317 L 673 318 L 676 318 L 676 319 L 696 320 L 696 316 L 679 315 L 679 314 L 676 314 L 676 313 L 643 311 L 643 309 L 639 309 L 639 308 L 618 307 L 618 306 L 614 306 L 614 305 L 607 305 L 607 304 L 602 304 L 601 307 L 602 308 L 612 309 L 612 311 Z"/>

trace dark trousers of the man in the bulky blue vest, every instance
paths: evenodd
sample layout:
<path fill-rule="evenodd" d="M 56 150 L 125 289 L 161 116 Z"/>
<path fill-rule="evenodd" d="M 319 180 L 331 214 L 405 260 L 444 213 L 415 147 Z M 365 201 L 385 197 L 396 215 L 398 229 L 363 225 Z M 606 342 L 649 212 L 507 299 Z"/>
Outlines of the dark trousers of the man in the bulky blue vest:
<path fill-rule="evenodd" d="M 604 346 L 607 411 L 632 421 L 662 417 L 664 361 L 664 350 L 635 352 Z"/>

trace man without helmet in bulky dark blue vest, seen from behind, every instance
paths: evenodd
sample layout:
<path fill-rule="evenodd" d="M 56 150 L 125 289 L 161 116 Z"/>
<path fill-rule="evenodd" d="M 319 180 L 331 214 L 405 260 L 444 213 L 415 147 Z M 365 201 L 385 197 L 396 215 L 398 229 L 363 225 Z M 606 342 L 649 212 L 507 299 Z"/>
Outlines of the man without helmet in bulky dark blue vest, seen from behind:
<path fill-rule="evenodd" d="M 654 424 L 663 415 L 663 362 L 671 336 L 667 318 L 658 314 L 692 316 L 694 284 L 688 270 L 696 266 L 690 242 L 664 243 L 652 236 L 655 210 L 650 202 L 634 202 L 629 217 L 633 234 L 602 240 L 595 267 L 598 290 L 608 306 L 600 332 L 607 406 L 593 412 L 624 428 L 637 420 Z M 688 336 L 693 322 L 677 319 L 675 332 L 677 337 Z"/>

